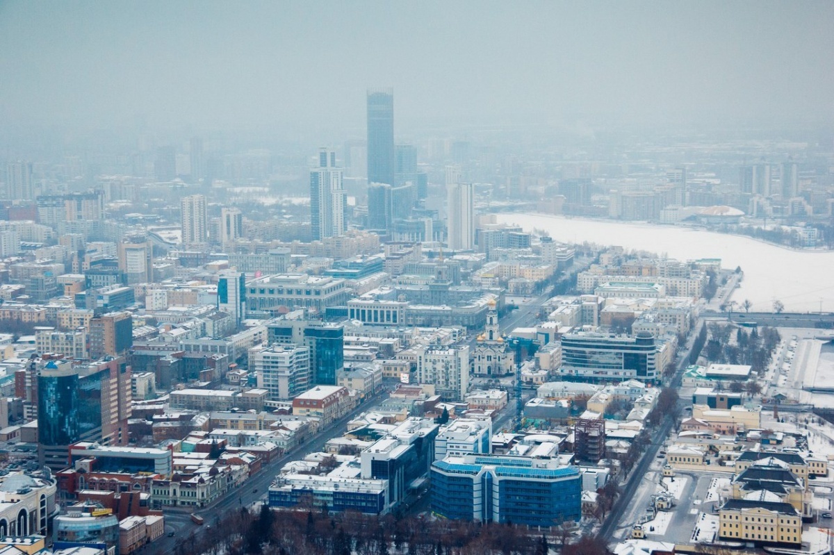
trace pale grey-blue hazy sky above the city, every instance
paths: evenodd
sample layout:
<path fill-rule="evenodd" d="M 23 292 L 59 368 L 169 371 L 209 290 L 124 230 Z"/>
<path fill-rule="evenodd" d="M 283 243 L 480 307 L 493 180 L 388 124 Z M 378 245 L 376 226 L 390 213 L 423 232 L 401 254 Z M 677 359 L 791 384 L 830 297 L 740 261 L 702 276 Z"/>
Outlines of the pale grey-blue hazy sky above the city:
<path fill-rule="evenodd" d="M 834 2 L 7 2 L 12 124 L 397 133 L 834 117 Z"/>

